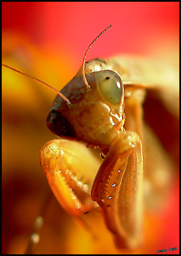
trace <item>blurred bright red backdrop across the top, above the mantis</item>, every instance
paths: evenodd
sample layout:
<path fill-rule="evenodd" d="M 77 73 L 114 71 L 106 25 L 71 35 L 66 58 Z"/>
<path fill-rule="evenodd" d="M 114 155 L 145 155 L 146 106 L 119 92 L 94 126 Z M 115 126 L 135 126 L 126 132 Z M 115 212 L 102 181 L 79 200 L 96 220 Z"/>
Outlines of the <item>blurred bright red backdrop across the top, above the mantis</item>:
<path fill-rule="evenodd" d="M 179 2 L 3 2 L 2 8 L 3 30 L 56 45 L 58 54 L 66 52 L 79 65 L 90 42 L 110 24 L 89 58 L 150 53 L 178 43 Z"/>

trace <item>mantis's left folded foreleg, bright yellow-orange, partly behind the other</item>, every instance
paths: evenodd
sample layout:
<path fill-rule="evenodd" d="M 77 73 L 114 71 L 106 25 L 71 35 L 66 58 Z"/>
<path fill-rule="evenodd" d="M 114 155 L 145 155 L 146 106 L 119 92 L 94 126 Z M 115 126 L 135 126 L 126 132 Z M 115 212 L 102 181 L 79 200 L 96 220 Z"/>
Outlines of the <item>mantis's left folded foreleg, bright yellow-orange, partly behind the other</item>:
<path fill-rule="evenodd" d="M 90 195 L 102 161 L 84 144 L 52 140 L 40 148 L 40 162 L 52 191 L 69 214 L 79 217 L 97 206 Z"/>

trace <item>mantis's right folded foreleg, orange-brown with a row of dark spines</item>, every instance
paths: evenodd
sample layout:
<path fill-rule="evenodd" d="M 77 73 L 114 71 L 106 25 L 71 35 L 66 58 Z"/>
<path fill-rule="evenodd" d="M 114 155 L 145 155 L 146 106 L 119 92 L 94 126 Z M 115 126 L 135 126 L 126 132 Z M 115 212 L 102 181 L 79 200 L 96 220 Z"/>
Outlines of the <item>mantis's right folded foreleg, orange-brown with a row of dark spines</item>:
<path fill-rule="evenodd" d="M 135 132 L 122 133 L 111 145 L 91 192 L 119 248 L 135 248 L 142 240 L 142 174 L 141 140 Z"/>

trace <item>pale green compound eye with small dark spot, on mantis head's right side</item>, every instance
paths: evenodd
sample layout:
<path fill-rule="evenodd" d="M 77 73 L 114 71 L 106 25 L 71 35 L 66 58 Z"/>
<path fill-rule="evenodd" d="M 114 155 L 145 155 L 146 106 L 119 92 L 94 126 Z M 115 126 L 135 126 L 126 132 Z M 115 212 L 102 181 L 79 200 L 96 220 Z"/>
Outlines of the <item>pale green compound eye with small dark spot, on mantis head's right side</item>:
<path fill-rule="evenodd" d="M 103 70 L 97 72 L 96 80 L 103 97 L 114 105 L 123 104 L 124 86 L 118 74 L 111 70 Z"/>

